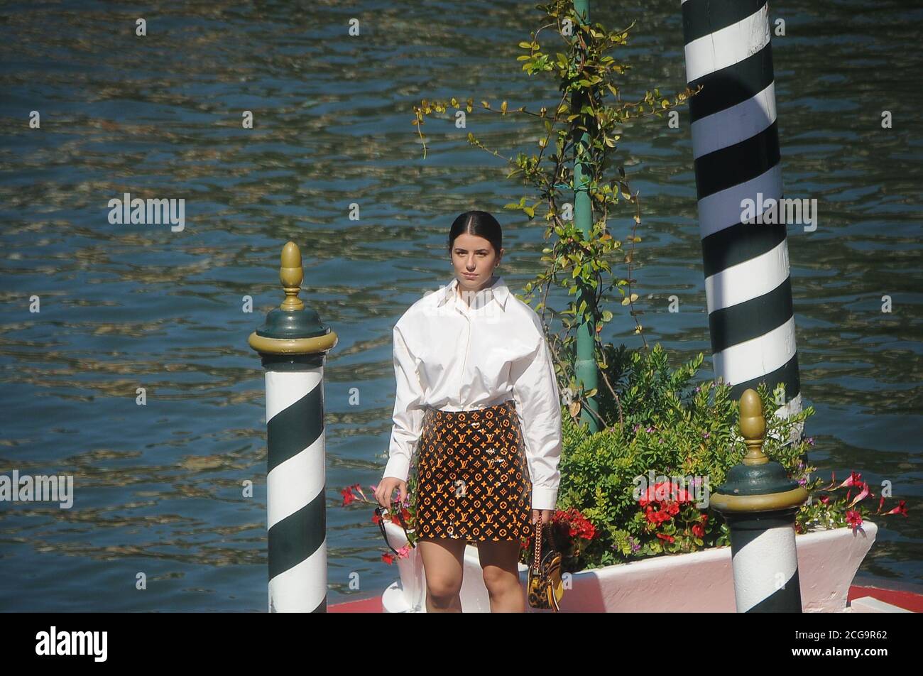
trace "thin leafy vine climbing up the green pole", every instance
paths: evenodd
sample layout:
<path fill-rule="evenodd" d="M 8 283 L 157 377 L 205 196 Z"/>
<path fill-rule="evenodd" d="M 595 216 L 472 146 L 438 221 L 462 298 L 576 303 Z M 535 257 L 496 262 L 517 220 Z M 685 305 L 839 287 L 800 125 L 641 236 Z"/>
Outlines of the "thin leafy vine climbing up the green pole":
<path fill-rule="evenodd" d="M 608 413 L 601 409 L 596 413 L 587 406 L 587 399 L 595 396 L 597 389 L 584 391 L 574 373 L 576 332 L 581 321 L 588 322 L 593 329 L 594 359 L 601 380 L 616 404 L 618 397 L 614 383 L 606 375 L 610 366 L 608 356 L 612 354 L 613 346 L 603 344 L 600 338 L 605 324 L 614 316 L 611 310 L 603 308 L 604 298 L 613 289 L 621 296 L 621 305 L 628 308 L 629 316 L 635 322 L 634 332 L 641 336 L 647 349 L 643 326 L 638 319 L 643 310 L 637 308 L 639 296 L 634 286 L 637 280 L 632 276 L 635 245 L 641 242 L 638 235 L 641 199 L 637 190 L 632 191 L 624 165 L 617 162 L 619 141 L 627 122 L 644 117 L 662 117 L 685 103 L 696 91 L 687 88 L 672 97 L 665 97 L 659 90 L 653 89 L 646 91 L 640 100 L 623 101 L 621 77 L 631 66 L 617 60 L 610 52 L 628 44 L 629 32 L 634 29 L 635 23 L 617 30 L 609 30 L 598 22 L 582 23 L 570 0 L 554 0 L 536 8 L 544 13 L 544 17 L 539 28 L 531 32 L 530 39 L 519 42 L 524 54 L 517 60 L 523 62 L 522 70 L 530 77 L 543 74 L 555 80 L 560 91 L 557 105 L 551 109 L 542 106 L 538 111 L 532 111 L 525 106 L 509 108 L 506 101 L 498 108 L 488 101 L 481 101 L 479 110 L 486 115 L 521 115 L 530 124 L 540 127 L 537 151 L 519 152 L 516 157 L 507 158 L 486 148 L 471 132 L 468 133 L 468 142 L 505 159 L 511 166 L 507 177 L 518 176 L 523 185 L 532 188 L 531 196 L 524 195 L 518 202 L 505 205 L 505 209 L 522 211 L 530 221 L 538 218 L 545 221 L 546 246 L 542 249 L 541 258 L 544 268 L 525 285 L 523 299 L 531 304 L 538 296 L 534 309 L 541 312 L 570 415 L 578 416 L 581 408 L 585 407 L 605 428 L 609 425 L 606 416 L 614 417 L 615 409 Z M 445 101 L 424 99 L 419 106 L 414 105 L 412 124 L 422 141 L 424 157 L 426 137 L 423 125 L 426 116 L 445 114 L 450 108 L 470 114 L 474 109 L 473 97 L 451 97 Z M 592 207 L 589 233 L 584 233 L 574 223 L 573 205 L 567 201 L 575 189 L 573 165 L 576 160 L 581 160 L 584 165 L 583 187 Z M 632 218 L 630 232 L 621 239 L 611 235 L 607 227 L 610 218 L 613 218 L 611 212 L 619 202 L 626 203 Z M 617 273 L 616 269 L 622 265 L 625 266 L 624 272 Z M 548 308 L 548 292 L 552 285 L 567 289 L 568 296 L 575 296 L 568 302 L 567 308 L 560 311 Z M 553 335 L 548 330 L 546 312 L 557 315 L 561 321 L 560 335 Z M 620 420 L 620 411 L 618 417 Z"/>

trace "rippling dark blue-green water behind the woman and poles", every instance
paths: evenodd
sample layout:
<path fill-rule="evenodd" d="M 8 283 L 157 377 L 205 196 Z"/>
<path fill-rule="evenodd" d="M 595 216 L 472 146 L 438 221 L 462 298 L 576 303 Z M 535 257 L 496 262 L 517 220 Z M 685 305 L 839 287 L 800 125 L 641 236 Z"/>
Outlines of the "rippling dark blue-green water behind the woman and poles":
<path fill-rule="evenodd" d="M 638 20 L 626 98 L 684 88 L 678 0 L 592 5 L 612 26 Z M 378 560 L 371 510 L 338 505 L 342 487 L 376 483 L 384 466 L 391 326 L 450 280 L 443 247 L 458 213 L 498 214 L 511 285 L 531 279 L 542 247 L 540 227 L 502 211 L 521 196 L 504 163 L 436 119 L 423 160 L 411 106 L 451 95 L 550 105 L 555 86 L 515 61 L 538 13 L 361 1 L 141 12 L 38 2 L 0 17 L 0 472 L 73 474 L 76 490 L 69 510 L 0 503 L 0 610 L 266 609 L 264 392 L 246 337 L 281 299 L 288 239 L 305 256 L 302 297 L 340 336 L 325 385 L 329 602 L 375 596 L 396 567 Z M 910 516 L 879 519 L 861 570 L 920 580 L 923 10 L 821 0 L 770 14 L 785 19 L 773 37 L 785 194 L 820 208 L 817 231 L 792 227 L 788 240 L 813 460 L 893 481 Z M 32 110 L 41 129 L 28 127 Z M 506 156 L 537 138 L 509 117 L 475 112 L 468 124 Z M 636 124 L 625 141 L 643 200 L 648 341 L 684 360 L 704 352 L 710 378 L 688 120 Z M 108 201 L 125 192 L 185 199 L 185 229 L 110 224 Z M 617 213 L 614 234 L 629 219 Z M 633 325 L 614 321 L 608 339 L 640 344 Z"/>

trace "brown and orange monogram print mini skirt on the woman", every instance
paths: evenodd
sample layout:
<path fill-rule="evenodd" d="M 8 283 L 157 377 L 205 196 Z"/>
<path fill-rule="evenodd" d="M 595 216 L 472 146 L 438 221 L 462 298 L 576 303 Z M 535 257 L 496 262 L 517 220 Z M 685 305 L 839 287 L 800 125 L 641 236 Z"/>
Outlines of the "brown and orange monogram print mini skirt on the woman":
<path fill-rule="evenodd" d="M 469 542 L 532 533 L 532 482 L 516 404 L 426 408 L 417 456 L 417 537 Z"/>

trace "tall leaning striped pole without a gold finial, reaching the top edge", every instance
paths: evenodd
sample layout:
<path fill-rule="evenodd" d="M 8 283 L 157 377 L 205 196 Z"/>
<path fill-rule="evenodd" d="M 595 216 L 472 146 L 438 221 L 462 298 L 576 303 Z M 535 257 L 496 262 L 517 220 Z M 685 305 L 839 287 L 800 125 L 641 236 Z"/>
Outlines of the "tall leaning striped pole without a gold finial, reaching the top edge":
<path fill-rule="evenodd" d="M 762 222 L 782 199 L 768 6 L 682 0 L 682 14 L 686 79 L 702 86 L 689 115 L 714 375 L 735 398 L 761 380 L 770 392 L 785 383 L 777 415 L 794 415 L 801 383 L 786 225 Z M 749 204 L 760 223 L 748 223 Z"/>

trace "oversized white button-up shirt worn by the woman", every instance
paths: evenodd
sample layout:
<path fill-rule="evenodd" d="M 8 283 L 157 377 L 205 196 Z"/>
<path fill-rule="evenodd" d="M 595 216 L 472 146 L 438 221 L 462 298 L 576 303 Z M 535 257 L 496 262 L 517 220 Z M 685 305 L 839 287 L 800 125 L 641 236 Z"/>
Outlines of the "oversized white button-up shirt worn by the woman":
<path fill-rule="evenodd" d="M 394 426 L 383 477 L 404 481 L 428 404 L 467 411 L 508 399 L 524 437 L 533 509 L 557 505 L 561 400 L 551 352 L 533 308 L 509 293 L 502 277 L 476 293 L 470 306 L 458 279 L 427 292 L 394 325 Z"/>

